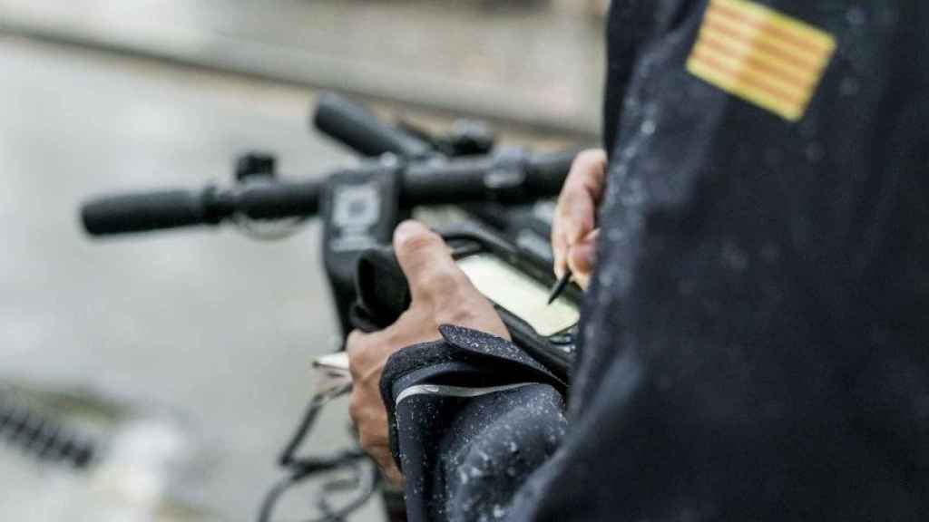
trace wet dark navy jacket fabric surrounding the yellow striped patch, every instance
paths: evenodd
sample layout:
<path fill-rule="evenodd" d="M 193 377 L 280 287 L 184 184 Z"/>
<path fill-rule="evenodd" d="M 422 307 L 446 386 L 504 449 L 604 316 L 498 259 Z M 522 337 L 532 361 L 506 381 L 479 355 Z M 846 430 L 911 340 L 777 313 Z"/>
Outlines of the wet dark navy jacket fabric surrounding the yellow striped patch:
<path fill-rule="evenodd" d="M 614 2 L 568 432 L 461 519 L 929 519 L 929 3 L 758 3 L 837 44 L 796 123 L 687 72 L 706 2 Z"/>

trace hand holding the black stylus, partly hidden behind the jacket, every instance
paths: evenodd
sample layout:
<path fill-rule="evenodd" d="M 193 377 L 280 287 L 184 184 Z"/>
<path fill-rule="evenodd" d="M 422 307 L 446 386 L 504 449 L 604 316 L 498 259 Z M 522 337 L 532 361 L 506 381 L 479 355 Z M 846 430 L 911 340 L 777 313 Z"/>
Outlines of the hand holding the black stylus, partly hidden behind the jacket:
<path fill-rule="evenodd" d="M 552 221 L 552 249 L 555 252 L 555 275 L 558 279 L 570 268 L 582 288 L 587 288 L 594 270 L 596 207 L 603 197 L 607 179 L 607 153 L 584 150 L 571 164 L 565 186 L 558 196 Z"/>

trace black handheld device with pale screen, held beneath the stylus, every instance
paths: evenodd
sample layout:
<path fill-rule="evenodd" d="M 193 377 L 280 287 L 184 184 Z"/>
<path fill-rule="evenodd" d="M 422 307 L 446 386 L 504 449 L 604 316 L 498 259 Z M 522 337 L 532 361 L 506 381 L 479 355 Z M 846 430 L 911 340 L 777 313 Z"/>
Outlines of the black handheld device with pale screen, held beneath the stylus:
<path fill-rule="evenodd" d="M 569 286 L 549 305 L 555 277 L 542 259 L 476 225 L 438 232 L 458 267 L 500 313 L 513 342 L 567 378 L 580 319 L 580 289 Z M 385 328 L 410 307 L 409 285 L 390 247 L 361 254 L 355 281 L 358 301 L 351 317 L 360 330 Z"/>

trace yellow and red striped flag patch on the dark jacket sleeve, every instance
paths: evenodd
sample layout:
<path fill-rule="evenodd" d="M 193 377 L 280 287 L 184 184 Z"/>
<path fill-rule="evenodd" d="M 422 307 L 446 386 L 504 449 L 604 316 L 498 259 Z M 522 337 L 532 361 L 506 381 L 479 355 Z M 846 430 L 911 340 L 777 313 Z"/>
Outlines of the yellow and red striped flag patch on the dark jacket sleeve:
<path fill-rule="evenodd" d="M 804 21 L 746 0 L 712 0 L 687 71 L 796 122 L 834 51 L 832 35 Z"/>

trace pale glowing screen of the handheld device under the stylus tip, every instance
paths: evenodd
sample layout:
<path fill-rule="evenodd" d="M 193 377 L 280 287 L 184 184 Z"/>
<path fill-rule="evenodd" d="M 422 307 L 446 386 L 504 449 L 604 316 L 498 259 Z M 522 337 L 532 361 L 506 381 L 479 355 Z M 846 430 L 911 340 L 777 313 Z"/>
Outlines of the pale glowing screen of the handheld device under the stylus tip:
<path fill-rule="evenodd" d="M 578 307 L 567 299 L 546 305 L 548 288 L 496 255 L 469 255 L 459 259 L 458 266 L 481 294 L 529 323 L 543 337 L 568 330 L 581 317 Z"/>

